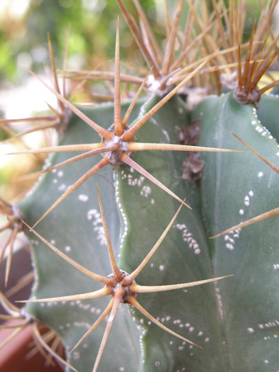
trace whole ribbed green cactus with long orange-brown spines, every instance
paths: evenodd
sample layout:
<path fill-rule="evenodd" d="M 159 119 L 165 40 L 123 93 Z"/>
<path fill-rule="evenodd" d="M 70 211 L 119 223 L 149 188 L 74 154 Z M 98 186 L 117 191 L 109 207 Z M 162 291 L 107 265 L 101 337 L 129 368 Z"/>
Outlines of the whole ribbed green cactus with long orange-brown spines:
<path fill-rule="evenodd" d="M 278 82 L 258 83 L 278 58 L 277 39 L 266 47 L 276 1 L 241 45 L 241 5 L 225 16 L 212 1 L 210 18 L 187 1 L 184 34 L 179 1 L 165 55 L 139 2 L 141 30 L 117 2 L 153 69 L 121 103 L 121 79 L 134 78 L 120 74 L 118 27 L 114 103 L 79 109 L 60 93 L 50 45 L 58 145 L 24 151 L 55 154 L 26 198 L 0 205 L 6 281 L 20 230 L 35 281 L 23 310 L 1 303 L 48 351 L 38 325 L 55 330 L 69 371 L 275 371 L 279 106 L 266 91 Z M 191 28 L 194 59 L 175 53 Z"/>

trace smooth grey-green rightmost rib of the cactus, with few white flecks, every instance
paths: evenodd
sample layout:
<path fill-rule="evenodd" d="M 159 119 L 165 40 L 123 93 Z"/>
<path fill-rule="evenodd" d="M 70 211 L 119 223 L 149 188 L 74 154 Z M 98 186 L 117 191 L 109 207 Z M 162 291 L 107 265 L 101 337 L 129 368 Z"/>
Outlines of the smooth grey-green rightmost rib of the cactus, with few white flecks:
<path fill-rule="evenodd" d="M 231 135 L 235 133 L 278 164 L 278 143 L 258 121 L 256 109 L 241 106 L 231 94 L 224 94 L 204 100 L 193 120 L 200 121 L 200 145 L 244 150 L 239 160 L 202 154 L 206 162 L 201 180 L 202 205 L 209 235 L 277 207 L 278 174 Z M 276 371 L 278 216 L 212 239 L 211 251 L 214 275 L 220 270 L 234 274 L 229 281 L 218 283 L 227 369 Z"/>

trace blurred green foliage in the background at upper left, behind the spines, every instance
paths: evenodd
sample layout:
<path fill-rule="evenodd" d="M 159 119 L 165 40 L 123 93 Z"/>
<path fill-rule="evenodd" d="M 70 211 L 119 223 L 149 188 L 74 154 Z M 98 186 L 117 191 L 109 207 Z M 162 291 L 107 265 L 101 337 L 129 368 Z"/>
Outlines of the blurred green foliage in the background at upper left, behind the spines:
<path fill-rule="evenodd" d="M 18 1 L 18 0 L 17 0 Z M 26 2 L 26 1 L 23 1 Z M 13 14 L 16 0 L 0 6 L 0 76 L 20 82 L 27 72 L 49 61 L 47 33 L 50 34 L 55 59 L 61 67 L 67 28 L 70 25 L 68 56 L 75 68 L 98 68 L 114 58 L 116 1 L 108 0 L 29 0 L 26 11 Z M 155 18 L 155 1 L 141 1 L 148 18 Z M 136 16 L 131 1 L 126 6 Z M 136 49 L 125 21 L 121 21 L 121 55 Z M 99 66 L 98 66 L 99 64 Z"/>

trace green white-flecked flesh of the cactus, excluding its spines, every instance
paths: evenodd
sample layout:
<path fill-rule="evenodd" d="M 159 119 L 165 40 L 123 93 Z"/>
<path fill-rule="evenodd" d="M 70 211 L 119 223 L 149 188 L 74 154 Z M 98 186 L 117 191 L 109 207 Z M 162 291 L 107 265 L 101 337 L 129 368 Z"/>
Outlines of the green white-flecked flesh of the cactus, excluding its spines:
<path fill-rule="evenodd" d="M 143 115 L 157 101 L 152 96 L 139 102 L 133 118 Z M 113 106 L 92 108 L 87 115 L 109 126 L 113 121 Z M 138 131 L 137 140 L 175 143 L 177 128 L 192 123 L 199 123 L 199 145 L 244 152 L 202 153 L 205 165 L 197 182 L 182 179 L 183 152 L 135 154 L 136 162 L 180 198 L 186 197 L 192 208 L 182 208 L 136 282 L 158 286 L 234 276 L 187 290 L 138 295 L 139 302 L 151 315 L 202 349 L 164 332 L 138 310 L 131 309 L 129 313 L 128 305 L 121 305 L 99 371 L 183 371 L 184 368 L 198 372 L 271 372 L 278 367 L 279 254 L 275 223 L 278 217 L 209 239 L 241 220 L 278 206 L 278 175 L 246 150 L 231 132 L 274 164 L 278 160 L 278 144 L 259 122 L 256 109 L 237 103 L 231 93 L 199 103 L 191 113 L 191 120 L 182 99 L 172 98 Z M 73 116 L 61 144 L 84 143 L 89 139 L 97 142 L 97 137 Z M 67 157 L 65 153 L 56 154 L 51 162 L 56 164 Z M 92 167 L 91 159 L 43 176 L 35 191 L 20 205 L 29 224 L 45 212 L 67 185 Z M 36 230 L 79 264 L 97 274 L 110 274 L 96 182 L 102 193 L 114 252 L 119 254 L 119 268 L 130 273 L 153 247 L 179 203 L 127 166 L 116 169 L 114 176 L 111 167 L 105 168 L 103 173 L 84 182 Z M 38 239 L 31 239 L 37 275 L 33 296 L 49 298 L 102 288 Z M 26 312 L 55 329 L 70 351 L 107 303 L 106 298 L 29 303 Z M 99 325 L 68 354 L 69 362 L 79 372 L 92 369 L 103 332 L 104 326 Z"/>

